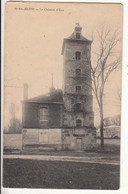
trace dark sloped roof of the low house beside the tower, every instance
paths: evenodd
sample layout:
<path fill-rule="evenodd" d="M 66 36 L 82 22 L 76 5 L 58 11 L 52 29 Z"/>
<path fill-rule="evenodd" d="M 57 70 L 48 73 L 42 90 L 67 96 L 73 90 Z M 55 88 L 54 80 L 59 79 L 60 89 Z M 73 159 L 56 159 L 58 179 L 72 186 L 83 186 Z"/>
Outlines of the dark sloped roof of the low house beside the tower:
<path fill-rule="evenodd" d="M 63 104 L 62 90 L 57 89 L 50 93 L 24 100 L 23 102 Z"/>

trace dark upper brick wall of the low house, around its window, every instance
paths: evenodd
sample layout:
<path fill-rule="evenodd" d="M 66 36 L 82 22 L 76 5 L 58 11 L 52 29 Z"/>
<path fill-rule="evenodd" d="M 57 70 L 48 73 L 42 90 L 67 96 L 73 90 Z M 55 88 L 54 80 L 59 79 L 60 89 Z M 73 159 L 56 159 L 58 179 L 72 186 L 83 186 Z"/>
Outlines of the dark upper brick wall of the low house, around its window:
<path fill-rule="evenodd" d="M 48 121 L 40 121 L 39 110 L 44 106 L 48 108 Z M 23 128 L 56 128 L 62 127 L 63 106 L 59 104 L 23 103 Z"/>

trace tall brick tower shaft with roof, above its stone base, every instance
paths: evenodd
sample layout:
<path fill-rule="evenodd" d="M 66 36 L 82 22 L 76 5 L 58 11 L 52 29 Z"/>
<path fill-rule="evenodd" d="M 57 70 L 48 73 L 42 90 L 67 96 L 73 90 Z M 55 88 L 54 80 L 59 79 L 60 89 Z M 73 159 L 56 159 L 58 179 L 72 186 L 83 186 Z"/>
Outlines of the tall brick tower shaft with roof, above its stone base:
<path fill-rule="evenodd" d="M 74 32 L 65 38 L 63 55 L 64 127 L 94 127 L 91 89 L 91 43 L 81 34 L 77 23 Z"/>

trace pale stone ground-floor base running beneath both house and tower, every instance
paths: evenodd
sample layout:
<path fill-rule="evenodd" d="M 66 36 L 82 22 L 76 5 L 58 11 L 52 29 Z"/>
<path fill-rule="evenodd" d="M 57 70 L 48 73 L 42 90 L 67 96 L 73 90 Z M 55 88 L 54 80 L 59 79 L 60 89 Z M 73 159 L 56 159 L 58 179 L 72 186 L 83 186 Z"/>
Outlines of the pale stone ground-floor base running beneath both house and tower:
<path fill-rule="evenodd" d="M 96 128 L 23 128 L 22 146 L 23 149 L 37 150 L 93 150 L 96 147 Z"/>

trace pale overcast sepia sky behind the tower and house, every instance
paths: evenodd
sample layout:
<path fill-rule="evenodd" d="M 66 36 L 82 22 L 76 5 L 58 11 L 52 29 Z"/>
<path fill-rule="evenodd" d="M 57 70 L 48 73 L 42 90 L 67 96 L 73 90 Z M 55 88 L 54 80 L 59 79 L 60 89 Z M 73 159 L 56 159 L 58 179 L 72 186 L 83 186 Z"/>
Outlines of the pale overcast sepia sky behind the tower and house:
<path fill-rule="evenodd" d="M 28 8 L 31 9 L 27 10 Z M 58 8 L 61 11 L 57 11 Z M 120 38 L 122 34 L 120 4 L 13 2 L 6 4 L 5 13 L 5 125 L 10 119 L 11 103 L 15 104 L 16 116 L 21 119 L 24 83 L 29 84 L 30 98 L 49 91 L 51 73 L 54 76 L 54 86 L 62 88 L 62 43 L 64 38 L 71 35 L 76 22 L 82 26 L 82 34 L 87 39 L 91 39 L 92 32 L 104 24 L 112 31 L 118 29 Z M 95 42 L 92 47 L 95 50 Z M 121 44 L 118 51 L 121 51 Z M 120 113 L 120 83 L 121 68 L 111 75 L 107 83 L 105 116 Z M 94 112 L 97 124 L 95 101 Z"/>

